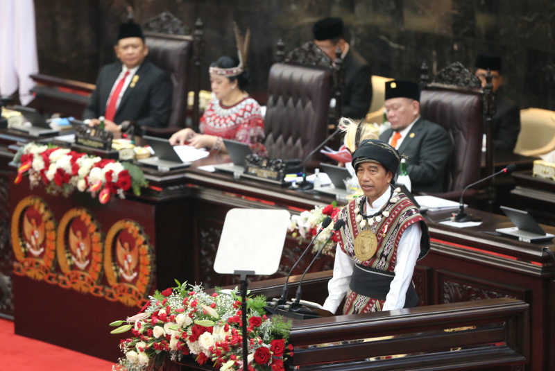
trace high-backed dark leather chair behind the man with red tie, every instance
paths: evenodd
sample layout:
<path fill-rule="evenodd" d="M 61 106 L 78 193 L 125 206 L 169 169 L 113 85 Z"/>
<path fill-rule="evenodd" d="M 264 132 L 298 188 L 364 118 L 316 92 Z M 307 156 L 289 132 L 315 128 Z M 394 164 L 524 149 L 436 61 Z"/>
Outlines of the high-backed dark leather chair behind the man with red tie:
<path fill-rule="evenodd" d="M 198 92 L 200 91 L 200 55 L 202 54 L 202 21 L 195 24 L 195 34 L 187 33 L 176 17 L 164 12 L 143 24 L 145 42 L 148 45 L 147 59 L 167 71 L 173 83 L 171 116 L 167 128 L 143 128 L 148 135 L 170 137 L 187 126 L 187 96 L 194 91 L 195 103 L 192 122 L 198 126 Z"/>

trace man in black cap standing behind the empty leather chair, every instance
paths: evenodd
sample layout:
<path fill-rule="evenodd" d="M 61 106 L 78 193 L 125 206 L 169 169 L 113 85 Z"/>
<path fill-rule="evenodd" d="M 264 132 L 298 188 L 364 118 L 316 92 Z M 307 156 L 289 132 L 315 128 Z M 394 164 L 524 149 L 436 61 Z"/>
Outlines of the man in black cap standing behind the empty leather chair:
<path fill-rule="evenodd" d="M 368 62 L 343 38 L 343 20 L 325 18 L 313 28 L 314 44 L 328 57 L 335 60 L 337 46 L 345 69 L 345 87 L 341 94 L 341 116 L 361 119 L 366 116 L 372 101 L 372 74 Z"/>

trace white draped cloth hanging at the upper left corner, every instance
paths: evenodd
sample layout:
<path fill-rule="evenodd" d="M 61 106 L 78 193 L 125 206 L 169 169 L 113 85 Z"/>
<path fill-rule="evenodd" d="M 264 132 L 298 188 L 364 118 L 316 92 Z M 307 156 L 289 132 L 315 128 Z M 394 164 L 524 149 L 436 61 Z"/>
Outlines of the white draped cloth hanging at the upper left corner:
<path fill-rule="evenodd" d="M 33 100 L 30 90 L 37 74 L 37 40 L 33 0 L 0 0 L 0 94 L 15 93 L 27 105 Z"/>

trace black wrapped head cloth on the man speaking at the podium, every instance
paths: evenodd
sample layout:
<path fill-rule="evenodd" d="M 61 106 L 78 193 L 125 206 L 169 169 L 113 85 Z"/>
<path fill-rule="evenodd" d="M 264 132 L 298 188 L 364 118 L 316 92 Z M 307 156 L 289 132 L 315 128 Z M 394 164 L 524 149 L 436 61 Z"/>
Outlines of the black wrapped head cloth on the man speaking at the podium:
<path fill-rule="evenodd" d="M 357 166 L 363 162 L 377 162 L 382 164 L 391 173 L 397 173 L 401 156 L 398 151 L 379 139 L 366 139 L 361 142 L 359 148 L 352 154 L 352 167 L 357 170 Z"/>

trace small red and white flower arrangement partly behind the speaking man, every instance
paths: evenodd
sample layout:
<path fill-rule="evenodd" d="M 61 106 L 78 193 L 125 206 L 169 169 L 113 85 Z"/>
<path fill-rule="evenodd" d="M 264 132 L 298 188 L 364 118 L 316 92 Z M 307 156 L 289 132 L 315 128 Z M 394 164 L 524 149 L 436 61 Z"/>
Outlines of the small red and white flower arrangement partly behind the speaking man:
<path fill-rule="evenodd" d="M 293 237 L 298 237 L 299 243 L 305 239 L 312 239 L 318 233 L 324 219 L 327 216 L 334 218 L 339 212 L 341 212 L 341 207 L 338 207 L 335 201 L 327 206 L 316 206 L 310 211 L 305 210 L 300 213 L 300 215 L 291 216 L 291 220 L 289 221 L 289 232 L 292 232 Z M 318 235 L 318 238 L 312 245 L 312 252 L 314 254 L 320 250 L 323 243 L 327 240 L 327 237 L 330 236 L 333 227 L 333 223 L 330 223 L 330 225 Z M 321 254 L 333 257 L 335 255 L 336 243 L 337 237 L 333 234 L 330 241 L 324 246 Z"/>

